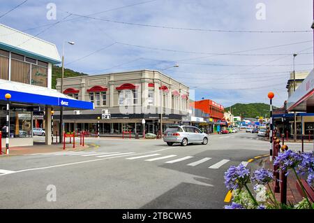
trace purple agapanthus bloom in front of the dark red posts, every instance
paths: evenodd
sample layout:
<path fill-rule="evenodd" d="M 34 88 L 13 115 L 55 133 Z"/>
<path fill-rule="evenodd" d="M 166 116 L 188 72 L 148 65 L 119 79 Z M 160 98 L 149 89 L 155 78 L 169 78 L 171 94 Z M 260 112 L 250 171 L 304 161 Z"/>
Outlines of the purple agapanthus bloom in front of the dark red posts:
<path fill-rule="evenodd" d="M 280 170 L 287 171 L 290 168 L 299 166 L 301 161 L 301 154 L 287 150 L 278 154 L 278 157 L 275 158 L 274 165 L 278 165 Z"/>

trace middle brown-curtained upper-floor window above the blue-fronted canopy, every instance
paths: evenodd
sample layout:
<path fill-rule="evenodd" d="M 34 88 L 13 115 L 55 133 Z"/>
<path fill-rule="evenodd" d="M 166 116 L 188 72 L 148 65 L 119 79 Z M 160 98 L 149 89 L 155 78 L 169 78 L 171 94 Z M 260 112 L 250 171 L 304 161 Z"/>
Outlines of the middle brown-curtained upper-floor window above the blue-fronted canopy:
<path fill-rule="evenodd" d="M 31 64 L 11 59 L 11 80 L 29 84 Z M 47 87 L 47 86 L 46 86 Z"/>

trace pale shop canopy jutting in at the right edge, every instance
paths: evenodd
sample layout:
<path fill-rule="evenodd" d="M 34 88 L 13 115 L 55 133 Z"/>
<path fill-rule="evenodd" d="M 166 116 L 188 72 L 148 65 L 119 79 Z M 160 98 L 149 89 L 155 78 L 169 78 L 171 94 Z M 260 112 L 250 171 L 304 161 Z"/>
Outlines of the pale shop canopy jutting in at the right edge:
<path fill-rule="evenodd" d="M 288 111 L 305 112 L 306 107 L 314 106 L 314 73 L 313 70 L 287 100 Z"/>

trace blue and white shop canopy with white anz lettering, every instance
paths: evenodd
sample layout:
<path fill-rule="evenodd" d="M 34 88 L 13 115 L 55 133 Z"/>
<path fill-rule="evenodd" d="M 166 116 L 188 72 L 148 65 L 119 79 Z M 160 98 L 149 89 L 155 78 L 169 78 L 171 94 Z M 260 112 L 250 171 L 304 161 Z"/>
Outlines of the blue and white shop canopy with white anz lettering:
<path fill-rule="evenodd" d="M 10 101 L 14 103 L 31 104 L 32 106 L 63 107 L 65 110 L 94 109 L 94 103 L 73 99 L 66 94 L 61 94 L 56 89 L 0 80 L 1 101 L 6 101 L 5 95 L 7 93 L 11 95 Z"/>

